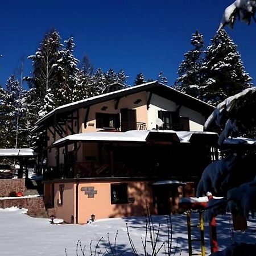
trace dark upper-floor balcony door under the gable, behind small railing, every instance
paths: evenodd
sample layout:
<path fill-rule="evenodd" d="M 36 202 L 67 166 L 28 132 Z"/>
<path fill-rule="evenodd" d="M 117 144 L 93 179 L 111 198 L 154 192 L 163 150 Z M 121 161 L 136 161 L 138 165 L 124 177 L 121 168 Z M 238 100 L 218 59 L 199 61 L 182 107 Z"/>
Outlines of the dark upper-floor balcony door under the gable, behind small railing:
<path fill-rule="evenodd" d="M 121 109 L 121 131 L 137 130 L 136 109 Z"/>

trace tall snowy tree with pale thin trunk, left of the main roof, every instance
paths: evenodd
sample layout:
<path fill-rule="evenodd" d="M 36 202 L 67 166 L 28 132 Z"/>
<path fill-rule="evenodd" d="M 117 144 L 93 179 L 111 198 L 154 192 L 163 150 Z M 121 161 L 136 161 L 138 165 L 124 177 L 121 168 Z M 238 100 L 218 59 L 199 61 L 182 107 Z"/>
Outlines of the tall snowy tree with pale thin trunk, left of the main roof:
<path fill-rule="evenodd" d="M 35 122 L 43 115 L 51 110 L 51 103 L 54 101 L 52 94 L 59 86 L 59 73 L 61 66 L 57 60 L 61 59 L 61 38 L 56 30 L 51 30 L 42 39 L 40 47 L 37 49 L 35 55 L 28 56 L 32 60 L 32 76 L 25 77 L 25 80 L 30 86 L 27 92 L 26 103 L 28 112 L 28 122 L 30 123 L 28 129 L 31 130 L 35 126 Z M 48 101 L 48 105 L 46 105 Z M 42 132 L 33 134 L 30 146 L 35 150 L 41 152 L 42 158 L 45 157 L 47 144 L 47 134 Z"/>

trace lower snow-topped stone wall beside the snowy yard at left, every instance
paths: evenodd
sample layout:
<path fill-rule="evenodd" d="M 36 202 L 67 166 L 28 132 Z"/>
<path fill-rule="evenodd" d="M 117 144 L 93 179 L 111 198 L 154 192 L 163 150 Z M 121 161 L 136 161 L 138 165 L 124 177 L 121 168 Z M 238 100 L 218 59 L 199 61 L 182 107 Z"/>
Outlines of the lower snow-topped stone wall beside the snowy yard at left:
<path fill-rule="evenodd" d="M 11 199 L 0 199 L 0 208 L 19 207 L 28 209 L 27 214 L 32 216 L 46 216 L 43 196 L 17 197 Z"/>

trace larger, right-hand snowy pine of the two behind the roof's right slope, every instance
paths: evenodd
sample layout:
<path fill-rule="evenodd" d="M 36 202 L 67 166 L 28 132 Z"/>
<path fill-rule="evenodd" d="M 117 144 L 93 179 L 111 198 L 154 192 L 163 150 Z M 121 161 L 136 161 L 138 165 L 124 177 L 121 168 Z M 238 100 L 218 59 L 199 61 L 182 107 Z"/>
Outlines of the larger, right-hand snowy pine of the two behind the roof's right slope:
<path fill-rule="evenodd" d="M 252 86 L 251 77 L 245 72 L 237 46 L 225 30 L 211 39 L 205 51 L 203 64 L 205 102 L 217 105 L 225 98 Z"/>

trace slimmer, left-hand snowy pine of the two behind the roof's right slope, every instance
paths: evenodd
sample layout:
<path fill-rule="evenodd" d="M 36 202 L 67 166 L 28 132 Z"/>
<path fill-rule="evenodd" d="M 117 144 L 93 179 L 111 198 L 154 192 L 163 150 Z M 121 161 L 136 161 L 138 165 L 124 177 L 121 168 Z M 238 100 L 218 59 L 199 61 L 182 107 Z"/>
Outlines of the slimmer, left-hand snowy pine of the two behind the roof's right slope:
<path fill-rule="evenodd" d="M 187 93 L 195 98 L 201 99 L 200 88 L 202 85 L 203 73 L 201 65 L 203 62 L 204 39 L 199 31 L 192 34 L 191 44 L 193 49 L 184 54 L 184 60 L 181 61 L 175 81 L 175 89 Z"/>

